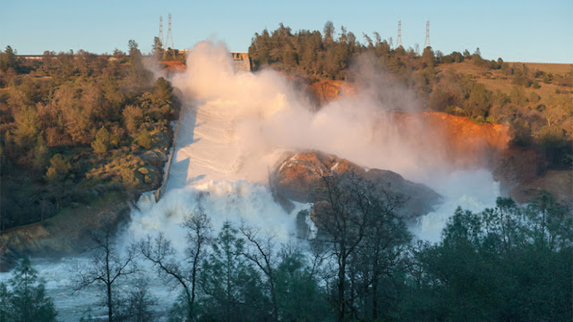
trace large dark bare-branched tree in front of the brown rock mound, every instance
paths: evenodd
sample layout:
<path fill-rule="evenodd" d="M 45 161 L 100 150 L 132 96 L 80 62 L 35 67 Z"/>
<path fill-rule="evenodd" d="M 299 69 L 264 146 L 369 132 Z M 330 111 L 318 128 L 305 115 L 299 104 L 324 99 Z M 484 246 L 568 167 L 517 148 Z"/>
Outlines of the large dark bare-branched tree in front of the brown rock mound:
<path fill-rule="evenodd" d="M 354 301 L 368 290 L 372 290 L 370 318 L 376 319 L 381 275 L 395 266 L 402 253 L 395 246 L 409 241 L 406 226 L 396 216 L 405 199 L 355 174 L 322 178 L 324 201 L 312 209 L 319 228 L 313 243 L 328 245 L 330 256 L 336 259 L 337 320 L 343 321 L 350 310 L 355 313 Z M 359 279 L 363 282 L 358 283 Z"/>

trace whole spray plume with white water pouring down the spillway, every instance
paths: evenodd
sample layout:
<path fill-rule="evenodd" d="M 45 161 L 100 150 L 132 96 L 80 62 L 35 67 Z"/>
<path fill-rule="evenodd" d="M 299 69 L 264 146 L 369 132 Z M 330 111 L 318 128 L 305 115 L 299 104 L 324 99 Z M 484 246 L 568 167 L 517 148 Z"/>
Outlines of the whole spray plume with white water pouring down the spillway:
<path fill-rule="evenodd" d="M 476 186 L 468 182 L 472 175 L 451 171 L 441 151 L 447 142 L 415 113 L 419 110 L 415 97 L 378 70 L 372 57 L 359 58 L 351 68 L 355 93 L 318 112 L 312 99 L 278 72 L 235 72 L 222 43 L 199 43 L 186 63 L 187 71 L 172 79 L 187 102 L 184 131 L 175 148 L 175 175 L 166 198 L 149 214 L 135 216 L 140 219 L 133 225 L 143 225 L 143 232 L 150 227 L 165 229 L 174 213 L 181 220 L 197 191 L 207 191 L 206 210 L 217 218 L 215 222 L 233 217 L 268 226 L 281 236 L 294 233 L 294 215 L 278 208 L 265 187 L 269 169 L 283 152 L 292 150 L 336 154 L 365 167 L 397 172 L 445 194 L 463 180 L 467 190 L 458 188 L 461 194 L 452 196 L 455 200 L 483 188 L 481 180 L 473 181 Z M 407 123 L 400 118 L 407 118 Z M 492 182 L 487 172 L 475 175 L 486 175 L 487 184 Z M 483 199 L 492 202 L 496 193 Z M 442 224 L 435 230 L 439 232 Z"/>

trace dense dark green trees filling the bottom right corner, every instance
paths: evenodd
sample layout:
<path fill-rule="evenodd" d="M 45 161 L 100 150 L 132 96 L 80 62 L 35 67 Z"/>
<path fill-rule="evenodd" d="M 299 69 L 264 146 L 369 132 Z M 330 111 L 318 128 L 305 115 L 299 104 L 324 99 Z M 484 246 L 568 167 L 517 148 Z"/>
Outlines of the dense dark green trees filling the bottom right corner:
<path fill-rule="evenodd" d="M 566 321 L 573 313 L 572 221 L 547 194 L 474 214 L 460 208 L 437 245 L 414 252 L 408 315 L 426 320 Z M 414 318 L 416 319 L 416 318 Z"/>

